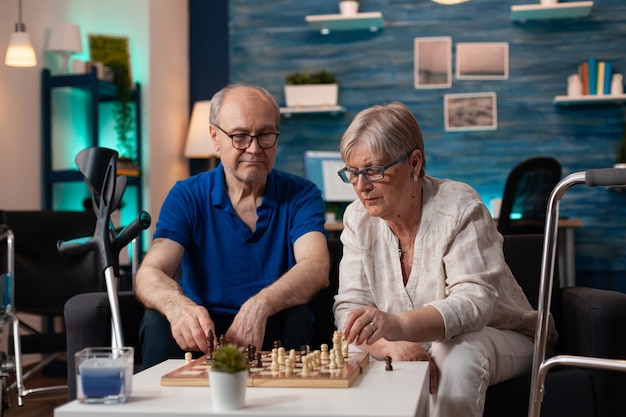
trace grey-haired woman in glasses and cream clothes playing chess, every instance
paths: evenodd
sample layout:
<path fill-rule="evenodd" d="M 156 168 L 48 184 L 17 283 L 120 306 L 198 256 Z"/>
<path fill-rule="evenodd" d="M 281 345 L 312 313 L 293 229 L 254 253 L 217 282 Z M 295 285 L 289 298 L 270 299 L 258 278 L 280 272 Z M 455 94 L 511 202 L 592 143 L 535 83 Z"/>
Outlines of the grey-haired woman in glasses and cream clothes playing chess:
<path fill-rule="evenodd" d="M 482 416 L 485 392 L 527 372 L 536 311 L 467 184 L 425 175 L 401 103 L 359 113 L 340 144 L 358 200 L 343 217 L 335 324 L 375 358 L 430 362 L 431 416 Z"/>

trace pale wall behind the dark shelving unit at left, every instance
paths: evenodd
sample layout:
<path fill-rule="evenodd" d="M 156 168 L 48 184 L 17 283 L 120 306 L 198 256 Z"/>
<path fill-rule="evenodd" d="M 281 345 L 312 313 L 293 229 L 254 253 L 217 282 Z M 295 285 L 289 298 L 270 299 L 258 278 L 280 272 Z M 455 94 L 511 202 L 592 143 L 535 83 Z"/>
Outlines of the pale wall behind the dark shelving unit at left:
<path fill-rule="evenodd" d="M 187 10 L 184 0 L 23 0 L 22 21 L 38 65 L 12 68 L 4 54 L 18 1 L 0 1 L 0 210 L 42 208 L 40 79 L 41 70 L 56 63 L 44 51 L 45 37 L 55 22 L 68 21 L 81 27 L 86 52 L 88 33 L 129 37 L 133 78 L 143 93 L 143 208 L 156 222 L 167 191 L 188 175 Z M 6 351 L 4 332 L 2 339 Z"/>

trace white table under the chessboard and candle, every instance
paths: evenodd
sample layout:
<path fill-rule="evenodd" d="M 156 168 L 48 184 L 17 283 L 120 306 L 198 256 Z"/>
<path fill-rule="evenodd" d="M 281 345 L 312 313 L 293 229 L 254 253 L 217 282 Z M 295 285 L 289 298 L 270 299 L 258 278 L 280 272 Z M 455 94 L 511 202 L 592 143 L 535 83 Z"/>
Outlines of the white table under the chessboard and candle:
<path fill-rule="evenodd" d="M 249 387 L 246 406 L 213 413 L 208 387 L 163 387 L 161 376 L 182 366 L 169 360 L 133 377 L 133 393 L 125 404 L 94 405 L 72 401 L 54 410 L 55 417 L 101 416 L 298 416 L 298 417 L 427 417 L 428 362 L 371 361 L 350 388 Z"/>

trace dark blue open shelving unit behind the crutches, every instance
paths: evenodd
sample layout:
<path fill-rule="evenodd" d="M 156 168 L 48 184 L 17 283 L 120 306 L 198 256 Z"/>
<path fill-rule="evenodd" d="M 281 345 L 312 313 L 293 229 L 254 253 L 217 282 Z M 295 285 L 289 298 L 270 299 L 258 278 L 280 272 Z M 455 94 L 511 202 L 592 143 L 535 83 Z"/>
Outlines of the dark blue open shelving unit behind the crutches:
<path fill-rule="evenodd" d="M 52 93 L 55 89 L 70 88 L 85 91 L 88 96 L 88 146 L 102 146 L 100 138 L 99 112 L 100 104 L 117 101 L 117 87 L 106 81 L 98 79 L 94 68 L 88 74 L 72 75 L 51 75 L 49 69 L 44 69 L 41 74 L 41 118 L 42 118 L 42 184 L 43 184 L 43 208 L 55 210 L 55 185 L 67 183 L 82 183 L 82 174 L 75 167 L 53 168 L 53 153 L 55 149 L 61 147 L 60 138 L 53 137 L 53 121 L 55 115 L 52 108 Z M 135 139 L 137 149 L 137 160 L 141 161 L 141 86 L 136 83 L 132 93 L 132 100 L 135 107 Z M 71 114 L 71 113 L 70 113 Z M 70 121 L 71 123 L 71 121 Z M 65 139 L 64 139 L 65 140 Z M 71 138 L 67 138 L 71 140 Z M 118 172 L 119 174 L 119 172 Z M 124 171 L 128 176 L 126 193 L 134 189 L 134 198 L 139 209 L 143 207 L 142 201 L 142 177 L 141 170 Z"/>

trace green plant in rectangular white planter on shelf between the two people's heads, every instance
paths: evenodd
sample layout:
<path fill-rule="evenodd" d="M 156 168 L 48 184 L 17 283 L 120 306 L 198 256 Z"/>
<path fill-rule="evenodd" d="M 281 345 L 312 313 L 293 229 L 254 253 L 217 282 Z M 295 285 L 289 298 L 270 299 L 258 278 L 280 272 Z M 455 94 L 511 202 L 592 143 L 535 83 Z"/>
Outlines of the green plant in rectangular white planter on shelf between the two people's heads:
<path fill-rule="evenodd" d="M 337 77 L 328 70 L 293 72 L 285 77 L 287 107 L 330 107 L 337 105 Z"/>

